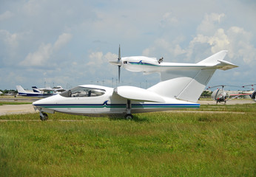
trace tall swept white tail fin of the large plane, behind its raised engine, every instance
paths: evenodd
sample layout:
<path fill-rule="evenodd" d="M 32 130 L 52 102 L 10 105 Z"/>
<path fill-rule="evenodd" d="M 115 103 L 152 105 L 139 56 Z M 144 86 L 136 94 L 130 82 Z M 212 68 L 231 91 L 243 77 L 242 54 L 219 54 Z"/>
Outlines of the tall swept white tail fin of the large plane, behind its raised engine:
<path fill-rule="evenodd" d="M 181 66 L 179 69 L 161 72 L 162 81 L 149 88 L 149 91 L 154 91 L 163 97 L 197 102 L 216 69 L 226 70 L 238 67 L 223 61 L 225 56 L 226 51 L 221 51 L 191 66 Z"/>

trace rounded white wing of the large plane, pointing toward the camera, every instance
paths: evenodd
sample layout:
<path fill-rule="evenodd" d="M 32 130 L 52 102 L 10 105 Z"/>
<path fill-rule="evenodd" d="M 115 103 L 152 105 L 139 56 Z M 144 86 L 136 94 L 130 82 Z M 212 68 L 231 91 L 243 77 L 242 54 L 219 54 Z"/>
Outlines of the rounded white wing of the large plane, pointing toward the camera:
<path fill-rule="evenodd" d="M 115 93 L 128 100 L 140 100 L 148 102 L 164 102 L 164 99 L 152 91 L 134 86 L 119 86 L 115 88 Z"/>

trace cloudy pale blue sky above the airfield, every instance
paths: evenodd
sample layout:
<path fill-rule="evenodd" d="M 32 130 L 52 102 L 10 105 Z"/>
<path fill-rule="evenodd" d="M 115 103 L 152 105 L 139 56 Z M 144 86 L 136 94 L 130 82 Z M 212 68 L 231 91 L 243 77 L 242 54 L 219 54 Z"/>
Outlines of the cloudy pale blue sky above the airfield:
<path fill-rule="evenodd" d="M 144 55 L 197 63 L 221 50 L 239 67 L 207 86 L 256 83 L 253 0 L 0 0 L 0 89 L 117 86 L 109 60 Z M 160 81 L 121 69 L 121 85 Z"/>

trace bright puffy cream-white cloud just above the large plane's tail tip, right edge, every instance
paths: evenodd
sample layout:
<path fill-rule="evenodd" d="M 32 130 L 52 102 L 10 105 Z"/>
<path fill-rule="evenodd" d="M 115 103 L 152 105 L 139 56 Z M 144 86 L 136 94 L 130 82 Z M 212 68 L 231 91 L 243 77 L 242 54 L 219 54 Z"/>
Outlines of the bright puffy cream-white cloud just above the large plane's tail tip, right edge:
<path fill-rule="evenodd" d="M 197 45 L 207 44 L 212 54 L 226 49 L 229 51 L 229 58 L 234 62 L 255 66 L 256 48 L 250 41 L 251 38 L 252 34 L 241 27 L 230 27 L 228 30 L 219 28 L 214 35 L 198 34 L 189 43 L 187 58 L 191 58 L 193 52 L 200 52 L 195 50 Z"/>

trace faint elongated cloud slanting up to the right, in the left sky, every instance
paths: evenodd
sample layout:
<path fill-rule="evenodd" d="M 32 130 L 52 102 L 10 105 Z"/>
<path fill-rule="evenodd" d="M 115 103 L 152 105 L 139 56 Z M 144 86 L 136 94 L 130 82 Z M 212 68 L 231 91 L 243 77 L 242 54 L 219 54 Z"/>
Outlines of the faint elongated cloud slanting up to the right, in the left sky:
<path fill-rule="evenodd" d="M 72 38 L 71 34 L 63 33 L 58 36 L 55 44 L 41 44 L 36 52 L 29 53 L 27 57 L 21 61 L 21 66 L 50 66 L 48 60 L 54 52 L 61 49 L 62 46 L 66 45 Z"/>

